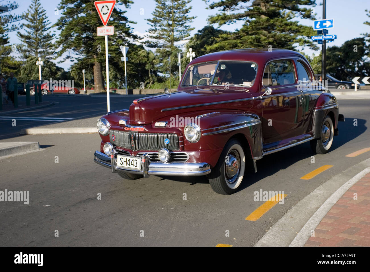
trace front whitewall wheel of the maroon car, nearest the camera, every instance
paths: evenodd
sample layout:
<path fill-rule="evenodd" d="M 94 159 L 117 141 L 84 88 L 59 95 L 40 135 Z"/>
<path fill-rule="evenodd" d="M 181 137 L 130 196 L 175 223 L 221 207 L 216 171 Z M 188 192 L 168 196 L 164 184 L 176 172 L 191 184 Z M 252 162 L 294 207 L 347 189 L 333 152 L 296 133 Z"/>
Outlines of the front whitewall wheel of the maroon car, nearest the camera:
<path fill-rule="evenodd" d="M 209 184 L 218 194 L 231 195 L 238 191 L 245 171 L 245 154 L 236 139 L 228 141 L 221 156 L 209 174 Z"/>

